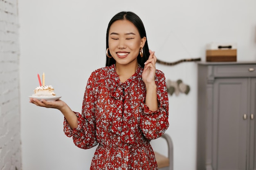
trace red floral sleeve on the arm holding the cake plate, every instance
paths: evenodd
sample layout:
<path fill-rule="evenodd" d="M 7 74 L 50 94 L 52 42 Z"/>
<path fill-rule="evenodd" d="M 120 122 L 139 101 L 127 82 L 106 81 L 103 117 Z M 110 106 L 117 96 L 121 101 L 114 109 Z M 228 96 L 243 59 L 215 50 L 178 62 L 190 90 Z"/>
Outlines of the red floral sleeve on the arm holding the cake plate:
<path fill-rule="evenodd" d="M 78 127 L 72 130 L 67 120 L 64 119 L 64 132 L 67 137 L 73 136 L 73 141 L 76 146 L 83 149 L 89 149 L 96 146 L 96 124 L 94 114 L 94 93 L 95 89 L 94 74 L 88 79 L 83 98 L 82 114 L 76 113 L 78 117 Z"/>

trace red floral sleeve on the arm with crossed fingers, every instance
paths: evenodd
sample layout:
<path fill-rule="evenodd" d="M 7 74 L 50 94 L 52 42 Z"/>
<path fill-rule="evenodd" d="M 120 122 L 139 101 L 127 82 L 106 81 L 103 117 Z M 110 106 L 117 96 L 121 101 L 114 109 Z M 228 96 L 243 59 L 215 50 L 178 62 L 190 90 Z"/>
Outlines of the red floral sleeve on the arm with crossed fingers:
<path fill-rule="evenodd" d="M 168 123 L 168 93 L 164 73 L 156 72 L 155 82 L 157 85 L 158 110 L 151 111 L 144 104 L 144 112 L 140 117 L 140 128 L 147 139 L 156 139 L 164 134 L 169 126 Z"/>

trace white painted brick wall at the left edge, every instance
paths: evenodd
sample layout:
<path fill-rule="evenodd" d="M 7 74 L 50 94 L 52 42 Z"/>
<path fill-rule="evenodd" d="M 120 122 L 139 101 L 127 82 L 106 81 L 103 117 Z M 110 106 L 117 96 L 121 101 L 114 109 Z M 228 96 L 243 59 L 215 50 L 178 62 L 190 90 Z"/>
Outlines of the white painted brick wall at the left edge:
<path fill-rule="evenodd" d="M 0 170 L 21 170 L 17 0 L 0 0 Z"/>

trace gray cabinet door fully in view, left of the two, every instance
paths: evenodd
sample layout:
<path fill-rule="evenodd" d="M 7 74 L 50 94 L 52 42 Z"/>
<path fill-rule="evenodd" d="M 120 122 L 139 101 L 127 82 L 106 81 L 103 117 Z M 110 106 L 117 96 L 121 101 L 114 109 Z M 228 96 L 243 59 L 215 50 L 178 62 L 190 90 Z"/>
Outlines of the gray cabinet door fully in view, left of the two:
<path fill-rule="evenodd" d="M 213 170 L 247 168 L 248 84 L 247 78 L 217 78 L 213 84 Z"/>

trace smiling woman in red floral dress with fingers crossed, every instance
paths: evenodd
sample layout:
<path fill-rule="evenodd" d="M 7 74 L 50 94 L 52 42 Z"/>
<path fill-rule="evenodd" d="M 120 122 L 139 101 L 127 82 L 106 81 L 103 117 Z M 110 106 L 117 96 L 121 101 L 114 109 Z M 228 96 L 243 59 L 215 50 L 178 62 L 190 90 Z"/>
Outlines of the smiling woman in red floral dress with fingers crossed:
<path fill-rule="evenodd" d="M 60 110 L 64 132 L 79 148 L 99 144 L 91 170 L 157 170 L 150 140 L 169 125 L 166 80 L 135 13 L 120 12 L 110 20 L 106 59 L 106 67 L 88 79 L 81 114 L 61 100 L 30 102 Z"/>

